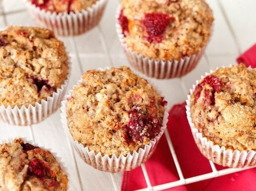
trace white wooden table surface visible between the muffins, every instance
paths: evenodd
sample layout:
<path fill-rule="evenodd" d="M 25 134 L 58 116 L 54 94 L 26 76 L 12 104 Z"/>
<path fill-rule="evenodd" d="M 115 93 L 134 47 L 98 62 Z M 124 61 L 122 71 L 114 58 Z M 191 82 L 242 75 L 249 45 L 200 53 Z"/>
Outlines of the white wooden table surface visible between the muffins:
<path fill-rule="evenodd" d="M 196 69 L 182 79 L 153 80 L 169 101 L 168 107 L 183 102 L 189 88 L 206 71 L 215 69 L 217 66 L 236 64 L 237 56 L 256 43 L 256 0 L 207 1 L 214 12 L 214 32 L 206 53 Z M 115 31 L 115 12 L 118 4 L 119 0 L 109 0 L 99 27 L 74 38 L 60 37 L 72 57 L 73 70 L 69 89 L 76 84 L 86 70 L 111 66 L 110 59 L 114 66 L 128 65 Z M 22 0 L 3 0 L 2 5 L 7 14 L 6 19 L 0 16 L 0 28 L 4 28 L 6 24 L 33 26 L 31 17 L 24 11 Z M 76 59 L 76 46 L 81 64 Z M 110 59 L 106 49 L 110 53 Z M 115 190 L 113 177 L 117 189 L 120 190 L 122 173 L 111 177 L 110 173 L 95 170 L 85 164 L 76 153 L 73 155 L 62 130 L 60 111 L 37 125 L 12 127 L 0 123 L 0 138 L 17 136 L 35 139 L 39 144 L 51 148 L 62 157 L 68 167 L 70 191 L 113 191 Z"/>

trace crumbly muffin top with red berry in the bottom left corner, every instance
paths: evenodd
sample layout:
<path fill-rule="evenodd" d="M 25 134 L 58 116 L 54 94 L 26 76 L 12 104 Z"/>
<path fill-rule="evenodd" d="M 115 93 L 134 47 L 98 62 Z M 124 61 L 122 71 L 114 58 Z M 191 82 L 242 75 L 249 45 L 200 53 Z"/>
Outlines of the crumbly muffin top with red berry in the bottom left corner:
<path fill-rule="evenodd" d="M 21 138 L 0 145 L 1 191 L 67 191 L 68 178 L 53 155 Z"/>

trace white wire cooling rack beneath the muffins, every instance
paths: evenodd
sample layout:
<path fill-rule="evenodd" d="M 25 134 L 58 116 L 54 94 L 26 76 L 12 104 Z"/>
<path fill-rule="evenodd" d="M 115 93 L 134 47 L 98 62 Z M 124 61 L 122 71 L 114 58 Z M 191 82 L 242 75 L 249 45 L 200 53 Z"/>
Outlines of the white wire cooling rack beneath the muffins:
<path fill-rule="evenodd" d="M 17 10 L 11 10 L 11 11 L 4 11 L 4 7 L 3 7 L 2 3 L 0 3 L 0 17 L 1 17 L 2 21 L 3 21 L 4 26 L 8 26 L 8 22 L 7 22 L 6 16 L 8 16 L 8 15 L 17 15 L 17 18 L 18 18 L 18 14 L 22 13 L 24 11 L 26 11 L 25 8 L 21 8 L 21 9 L 17 9 Z M 110 55 L 109 49 L 107 47 L 106 37 L 105 37 L 104 33 L 102 32 L 102 29 L 101 29 L 100 25 L 97 28 L 98 28 L 98 31 L 99 31 L 99 37 L 100 37 L 101 44 L 102 44 L 102 47 L 103 47 L 103 50 L 104 50 L 104 54 L 106 55 L 106 58 L 108 59 L 108 63 L 110 65 L 114 66 L 113 62 L 112 62 L 112 59 L 111 59 L 111 55 Z M 75 56 L 75 58 L 76 58 L 76 60 L 77 60 L 77 62 L 79 64 L 80 72 L 81 72 L 81 74 L 83 74 L 84 71 L 83 71 L 83 67 L 82 67 L 82 64 L 81 64 L 81 58 L 80 58 L 80 54 L 79 54 L 79 50 L 78 50 L 76 41 L 74 40 L 74 37 L 72 37 L 72 36 L 69 37 L 69 40 L 70 40 L 72 49 L 73 49 L 73 51 L 75 53 L 74 56 Z M 208 59 L 207 56 L 205 56 L 205 58 L 206 58 L 206 60 Z M 181 82 L 181 87 L 182 87 L 183 91 L 186 93 L 186 91 L 187 91 L 186 85 L 184 84 L 182 79 L 180 79 L 180 82 Z M 32 128 L 31 128 L 31 134 L 32 134 L 32 137 L 34 139 Z M 171 143 L 171 137 L 170 137 L 169 132 L 167 130 L 165 131 L 165 136 L 167 138 L 169 149 L 171 151 L 171 155 L 172 155 L 175 167 L 177 169 L 179 180 L 178 181 L 174 181 L 174 182 L 170 182 L 170 183 L 165 183 L 165 184 L 157 185 L 157 186 L 152 186 L 151 182 L 150 182 L 150 179 L 149 179 L 149 176 L 148 176 L 148 173 L 147 173 L 147 169 L 146 169 L 145 165 L 142 164 L 141 168 L 142 168 L 142 171 L 143 171 L 143 174 L 144 174 L 144 177 L 145 177 L 147 188 L 141 189 L 139 191 L 161 191 L 161 190 L 166 190 L 166 189 L 170 189 L 170 188 L 177 187 L 177 186 L 182 186 L 182 185 L 186 185 L 186 184 L 190 184 L 190 183 L 195 183 L 195 182 L 199 182 L 199 181 L 203 181 L 203 180 L 207 180 L 207 179 L 211 179 L 211 178 L 215 178 L 215 177 L 219 177 L 219 176 L 223 176 L 223 175 L 227 175 L 227 174 L 231 174 L 231 173 L 235 173 L 235 172 L 239 172 L 239 171 L 243 171 L 243 170 L 254 168 L 254 167 L 227 168 L 227 169 L 223 169 L 223 170 L 217 170 L 215 168 L 215 165 L 213 164 L 213 162 L 209 161 L 210 165 L 211 165 L 211 168 L 212 168 L 212 172 L 206 173 L 206 174 L 202 174 L 202 175 L 198 175 L 198 176 L 194 176 L 194 177 L 190 177 L 190 178 L 184 178 L 182 170 L 180 168 L 180 164 L 179 164 L 178 159 L 176 157 L 175 150 L 174 150 L 173 145 Z M 72 154 L 73 154 L 72 157 L 74 158 L 74 161 L 76 163 L 76 168 L 77 168 L 77 171 L 78 171 L 78 166 L 77 166 L 78 164 L 77 164 L 77 160 L 74 157 L 73 149 L 72 149 Z M 109 173 L 109 175 L 111 177 L 111 181 L 112 181 L 112 184 L 113 184 L 113 189 L 115 191 L 120 190 L 120 184 L 117 183 L 115 175 L 112 174 L 112 173 Z M 81 181 L 81 176 L 80 176 L 79 173 L 78 173 L 78 178 L 80 179 L 79 180 L 80 189 L 81 189 L 81 191 L 83 191 L 84 188 L 83 188 L 83 184 L 82 184 L 82 181 Z"/>

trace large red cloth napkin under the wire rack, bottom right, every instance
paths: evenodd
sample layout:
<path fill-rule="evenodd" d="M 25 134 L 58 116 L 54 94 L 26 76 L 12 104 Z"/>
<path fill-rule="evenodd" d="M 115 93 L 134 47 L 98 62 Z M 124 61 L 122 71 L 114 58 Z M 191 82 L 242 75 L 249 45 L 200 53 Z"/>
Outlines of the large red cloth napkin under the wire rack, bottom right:
<path fill-rule="evenodd" d="M 173 147 L 183 172 L 184 178 L 189 178 L 212 172 L 209 160 L 198 150 L 186 118 L 185 103 L 174 105 L 170 111 L 167 129 L 171 136 Z M 178 180 L 178 173 L 171 157 L 171 152 L 165 137 L 161 138 L 153 156 L 145 162 L 152 186 Z M 217 170 L 224 167 L 216 165 Z M 146 188 L 141 167 L 124 172 L 122 191 L 134 191 Z M 179 186 L 171 191 L 255 191 L 256 168 L 233 173 L 218 178 L 205 180 L 185 186 Z"/>

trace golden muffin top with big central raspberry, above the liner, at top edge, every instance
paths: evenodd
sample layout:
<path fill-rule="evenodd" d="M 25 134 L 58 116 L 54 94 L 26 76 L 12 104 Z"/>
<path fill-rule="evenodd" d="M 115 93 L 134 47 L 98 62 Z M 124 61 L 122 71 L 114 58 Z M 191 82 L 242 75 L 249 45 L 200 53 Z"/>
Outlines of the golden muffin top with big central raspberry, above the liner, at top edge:
<path fill-rule="evenodd" d="M 205 0 L 123 0 L 119 23 L 132 51 L 179 60 L 206 45 L 213 13 Z"/>

